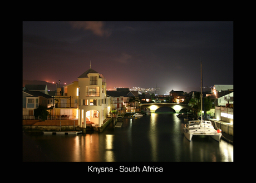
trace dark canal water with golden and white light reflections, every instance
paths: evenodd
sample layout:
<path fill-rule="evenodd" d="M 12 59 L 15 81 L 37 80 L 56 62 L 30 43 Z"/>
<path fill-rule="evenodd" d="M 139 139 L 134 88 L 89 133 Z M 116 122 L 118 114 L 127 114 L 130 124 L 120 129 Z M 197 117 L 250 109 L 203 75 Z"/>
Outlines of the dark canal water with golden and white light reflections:
<path fill-rule="evenodd" d="M 232 162 L 233 145 L 211 137 L 188 141 L 183 118 L 175 113 L 151 113 L 111 123 L 103 132 L 82 135 L 23 133 L 23 161 L 86 162 Z"/>

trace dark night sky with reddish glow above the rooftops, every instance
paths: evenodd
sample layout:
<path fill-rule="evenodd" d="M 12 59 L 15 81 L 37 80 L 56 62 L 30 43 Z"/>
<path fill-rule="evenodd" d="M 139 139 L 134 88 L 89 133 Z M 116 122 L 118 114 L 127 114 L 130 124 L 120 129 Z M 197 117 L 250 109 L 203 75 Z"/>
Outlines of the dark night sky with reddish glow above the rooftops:
<path fill-rule="evenodd" d="M 91 68 L 107 88 L 190 92 L 233 85 L 233 22 L 23 22 L 23 80 L 72 83 Z M 200 91 L 200 89 L 198 89 Z"/>

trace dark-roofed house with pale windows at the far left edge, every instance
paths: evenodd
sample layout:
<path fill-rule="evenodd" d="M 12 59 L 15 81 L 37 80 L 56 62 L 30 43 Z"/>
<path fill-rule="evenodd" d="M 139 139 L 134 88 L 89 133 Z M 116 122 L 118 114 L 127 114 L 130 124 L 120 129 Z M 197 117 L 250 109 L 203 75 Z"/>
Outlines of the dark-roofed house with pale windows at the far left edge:
<path fill-rule="evenodd" d="M 53 97 L 40 91 L 22 91 L 22 116 L 24 119 L 33 119 L 34 110 L 39 105 L 50 108 L 53 106 Z"/>

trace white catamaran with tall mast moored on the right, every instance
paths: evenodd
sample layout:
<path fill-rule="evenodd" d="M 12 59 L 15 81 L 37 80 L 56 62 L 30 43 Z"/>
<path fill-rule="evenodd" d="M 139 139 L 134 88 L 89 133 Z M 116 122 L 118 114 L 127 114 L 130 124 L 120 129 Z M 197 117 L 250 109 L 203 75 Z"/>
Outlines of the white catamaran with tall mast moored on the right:
<path fill-rule="evenodd" d="M 202 63 L 201 63 L 201 111 L 203 107 L 203 79 L 202 79 Z M 203 120 L 203 115 L 201 112 L 201 120 L 192 120 L 188 122 L 188 126 L 185 125 L 183 128 L 184 135 L 186 139 L 191 141 L 193 135 L 203 135 L 210 136 L 216 141 L 220 141 L 221 138 L 221 130 L 215 130 L 211 121 Z"/>

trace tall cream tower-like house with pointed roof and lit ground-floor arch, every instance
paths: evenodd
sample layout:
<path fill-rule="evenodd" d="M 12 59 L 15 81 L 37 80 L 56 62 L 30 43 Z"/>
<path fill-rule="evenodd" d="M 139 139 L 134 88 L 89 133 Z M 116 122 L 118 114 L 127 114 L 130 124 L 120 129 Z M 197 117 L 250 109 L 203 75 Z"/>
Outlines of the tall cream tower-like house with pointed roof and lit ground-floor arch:
<path fill-rule="evenodd" d="M 78 125 L 87 123 L 101 127 L 111 112 L 110 97 L 106 97 L 105 77 L 91 68 L 78 77 Z"/>

